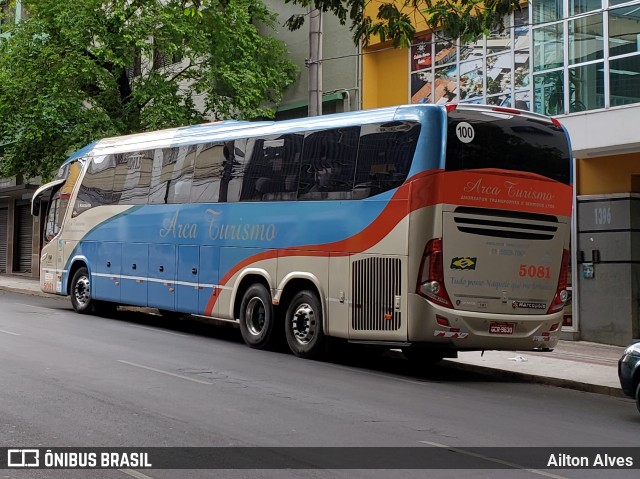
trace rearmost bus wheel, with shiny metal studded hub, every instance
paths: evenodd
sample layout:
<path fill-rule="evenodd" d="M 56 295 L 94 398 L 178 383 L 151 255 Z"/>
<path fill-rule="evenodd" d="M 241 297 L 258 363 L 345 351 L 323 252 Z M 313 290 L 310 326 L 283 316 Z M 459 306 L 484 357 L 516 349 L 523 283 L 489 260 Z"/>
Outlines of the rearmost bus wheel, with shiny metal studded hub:
<path fill-rule="evenodd" d="M 300 291 L 289 303 L 285 336 L 291 352 L 300 358 L 312 359 L 325 352 L 322 306 L 314 292 Z"/>

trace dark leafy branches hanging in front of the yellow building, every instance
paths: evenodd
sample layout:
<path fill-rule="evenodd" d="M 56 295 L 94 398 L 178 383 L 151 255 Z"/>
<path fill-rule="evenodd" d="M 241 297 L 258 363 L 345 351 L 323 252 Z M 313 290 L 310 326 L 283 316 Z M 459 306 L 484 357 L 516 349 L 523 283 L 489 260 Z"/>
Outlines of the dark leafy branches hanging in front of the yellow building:
<path fill-rule="evenodd" d="M 505 15 L 520 9 L 520 0 L 391 0 L 379 2 L 375 18 L 364 15 L 371 0 L 284 0 L 303 7 L 334 13 L 345 25 L 350 23 L 354 42 L 367 45 L 372 37 L 392 41 L 395 47 L 408 47 L 416 33 L 416 21 L 430 30 L 439 30 L 446 38 L 463 42 L 479 35 L 505 28 Z M 294 15 L 286 22 L 296 30 L 304 18 Z"/>

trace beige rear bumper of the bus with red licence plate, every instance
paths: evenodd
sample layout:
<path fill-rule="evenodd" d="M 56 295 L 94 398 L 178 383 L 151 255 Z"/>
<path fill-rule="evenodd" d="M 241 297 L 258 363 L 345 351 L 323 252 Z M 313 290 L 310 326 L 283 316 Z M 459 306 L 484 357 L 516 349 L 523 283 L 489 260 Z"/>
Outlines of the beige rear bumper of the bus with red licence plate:
<path fill-rule="evenodd" d="M 554 314 L 504 315 L 461 311 L 409 295 L 407 338 L 412 344 L 448 344 L 457 351 L 553 349 L 562 311 Z"/>

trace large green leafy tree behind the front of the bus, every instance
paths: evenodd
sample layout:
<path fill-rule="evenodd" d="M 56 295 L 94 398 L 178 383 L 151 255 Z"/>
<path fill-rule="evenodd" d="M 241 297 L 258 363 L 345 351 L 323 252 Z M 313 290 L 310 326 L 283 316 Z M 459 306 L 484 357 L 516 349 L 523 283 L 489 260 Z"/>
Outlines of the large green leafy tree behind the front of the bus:
<path fill-rule="evenodd" d="M 258 31 L 274 22 L 261 0 L 22 4 L 28 18 L 0 40 L 3 176 L 47 177 L 105 136 L 272 116 L 297 75 Z"/>

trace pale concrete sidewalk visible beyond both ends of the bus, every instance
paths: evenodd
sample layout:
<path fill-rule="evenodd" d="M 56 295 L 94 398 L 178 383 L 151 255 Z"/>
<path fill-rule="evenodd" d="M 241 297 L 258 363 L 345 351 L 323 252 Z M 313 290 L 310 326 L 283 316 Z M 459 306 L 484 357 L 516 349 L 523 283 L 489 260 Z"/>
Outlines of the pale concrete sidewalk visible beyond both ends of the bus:
<path fill-rule="evenodd" d="M 52 297 L 39 282 L 23 276 L 0 275 L 0 290 Z M 618 382 L 618 359 L 624 347 L 585 341 L 560 341 L 552 352 L 463 352 L 443 366 L 500 375 L 580 391 L 624 397 Z"/>

